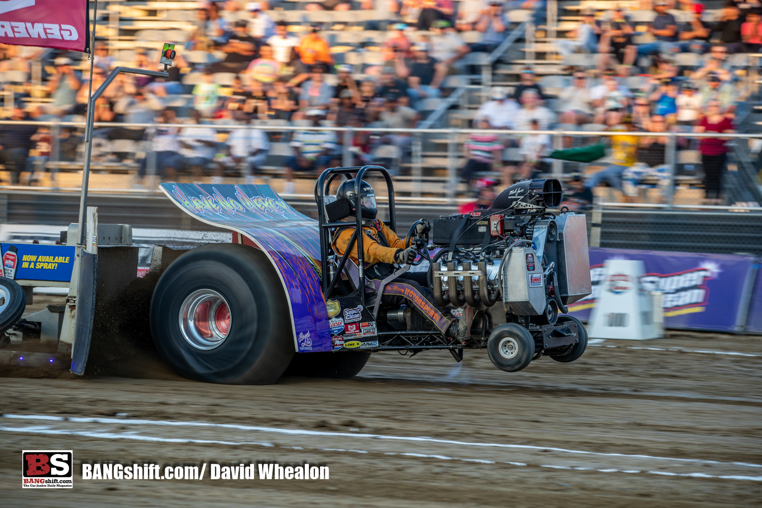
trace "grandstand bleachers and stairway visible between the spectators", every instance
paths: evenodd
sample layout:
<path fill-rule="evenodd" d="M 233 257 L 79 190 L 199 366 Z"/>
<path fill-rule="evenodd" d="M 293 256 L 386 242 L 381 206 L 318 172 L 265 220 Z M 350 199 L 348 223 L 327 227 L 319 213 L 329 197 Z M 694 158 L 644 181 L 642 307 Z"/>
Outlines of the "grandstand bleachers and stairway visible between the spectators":
<path fill-rule="evenodd" d="M 381 4 L 385 2 L 377 2 Z M 458 9 L 459 3 L 453 2 Z M 516 2 L 512 2 L 516 3 Z M 688 2 L 678 2 L 680 10 L 669 11 L 677 18 L 678 22 L 689 22 L 693 17 L 693 11 L 689 10 Z M 235 0 L 226 2 L 226 7 L 220 11 L 221 17 L 228 24 L 235 21 L 249 21 L 250 13 L 245 9 L 245 2 L 240 2 L 237 10 L 230 8 Z M 720 18 L 724 2 L 708 0 L 703 2 L 704 9 L 701 18 L 706 22 L 713 22 Z M 91 2 L 91 13 L 94 3 Z M 182 57 L 182 66 L 179 69 L 180 88 L 168 90 L 170 93 L 161 94 L 158 97 L 165 108 L 173 110 L 178 122 L 184 122 L 194 109 L 194 88 L 204 82 L 207 69 L 216 69 L 215 63 L 223 62 L 226 53 L 219 46 L 207 46 L 199 43 L 198 36 L 203 31 L 200 21 L 199 10 L 208 5 L 208 2 L 187 2 L 185 0 L 124 0 L 121 2 L 99 2 L 96 37 L 98 43 L 104 43 L 107 47 L 107 55 L 111 65 L 146 65 L 145 62 L 158 62 L 159 49 L 165 42 L 177 43 L 178 54 Z M 430 30 L 415 29 L 415 18 L 411 14 L 390 14 L 388 8 L 376 5 L 373 9 L 363 9 L 359 2 L 351 2 L 351 10 L 327 11 L 312 10 L 309 2 L 299 0 L 285 0 L 271 2 L 269 10 L 264 11 L 274 22 L 285 22 L 288 31 L 296 37 L 309 33 L 311 27 L 319 29 L 319 35 L 328 41 L 330 54 L 335 65 L 352 65 L 353 78 L 361 81 L 376 80 L 385 62 L 383 45 L 389 37 L 392 37 L 392 24 L 398 21 L 408 21 L 408 29 L 405 36 L 415 42 L 430 38 Z M 366 5 L 367 6 L 367 5 Z M 652 2 L 642 0 L 622 0 L 610 2 L 609 0 L 549 0 L 541 12 L 510 8 L 505 11 L 507 27 L 506 36 L 501 44 L 491 48 L 491 51 L 472 50 L 459 61 L 458 72 L 450 73 L 443 80 L 439 97 L 427 98 L 417 101 L 415 109 L 420 114 L 419 129 L 463 129 L 472 126 L 477 110 L 485 101 L 488 101 L 492 87 L 502 86 L 508 94 L 512 94 L 520 85 L 522 69 L 531 67 L 536 74 L 536 81 L 543 90 L 544 104 L 554 113 L 563 113 L 564 104 L 559 95 L 562 90 L 571 85 L 572 73 L 584 71 L 588 76 L 588 88 L 593 88 L 603 82 L 601 72 L 606 65 L 602 65 L 604 55 L 599 53 L 571 53 L 566 56 L 559 51 L 559 40 L 568 40 L 567 34 L 580 27 L 582 14 L 593 11 L 596 19 L 604 19 L 607 11 L 619 6 L 626 10 L 629 21 L 635 25 L 636 34 L 632 42 L 642 45 L 652 42 L 653 35 L 648 33 L 646 27 L 655 17 Z M 227 9 L 227 10 L 226 10 Z M 541 15 L 539 15 L 541 14 Z M 479 48 L 484 34 L 477 30 L 460 31 L 459 37 L 463 43 Z M 717 34 L 715 34 L 717 37 Z M 483 46 L 483 45 L 482 45 Z M 142 54 L 145 53 L 145 56 Z M 28 54 L 28 52 L 27 52 Z M 47 111 L 47 107 L 53 102 L 50 91 L 46 90 L 46 81 L 55 73 L 53 58 L 59 55 L 57 52 L 45 52 L 40 57 L 29 59 L 24 65 L 6 65 L 7 69 L 0 72 L 0 81 L 3 83 L 3 100 L 5 117 L 11 117 L 12 104 L 14 101 L 24 101 L 27 110 L 42 107 L 40 110 Z M 75 69 L 83 72 L 88 69 L 88 62 L 82 55 L 69 53 L 66 56 L 72 59 L 81 59 L 75 62 Z M 18 58 L 17 58 L 18 59 Z M 690 75 L 703 66 L 705 56 L 696 53 L 676 53 L 673 65 L 677 70 L 677 78 L 690 78 Z M 6 59 L 13 62 L 14 59 Z M 78 63 L 78 65 L 77 65 Z M 736 129 L 741 132 L 759 132 L 759 123 L 762 123 L 762 107 L 757 106 L 758 85 L 757 68 L 759 56 L 752 53 L 735 53 L 728 58 L 730 72 L 735 76 L 735 101 L 738 107 L 735 110 Z M 655 72 L 655 62 L 652 56 L 639 56 L 636 61 L 636 71 L 632 75 L 623 76 L 621 82 L 630 91 L 636 92 L 644 88 L 650 75 Z M 212 81 L 219 85 L 219 96 L 229 97 L 233 94 L 235 78 L 239 77 L 242 84 L 248 85 L 251 81 L 248 72 L 214 72 Z M 328 85 L 338 85 L 338 77 L 335 74 L 325 75 Z M 66 116 L 59 115 L 59 120 L 82 120 L 82 110 L 67 112 Z M 72 114 L 74 113 L 74 114 Z M 39 120 L 53 120 L 50 114 L 43 115 Z M 207 120 L 210 126 L 216 126 L 219 131 L 218 141 L 223 142 L 227 133 L 219 126 L 229 123 L 239 123 L 239 119 L 231 118 L 230 115 L 221 115 L 218 118 Z M 300 123 L 301 122 L 301 123 Z M 291 130 L 278 130 L 288 126 L 303 126 L 303 120 L 283 120 L 282 118 L 255 117 L 252 124 L 268 126 L 269 130 L 269 155 L 255 170 L 258 177 L 277 177 L 283 174 L 283 164 L 287 158 L 294 155 L 293 147 L 290 146 Z M 323 126 L 333 126 L 331 120 L 322 120 Z M 373 126 L 373 124 L 370 124 Z M 378 126 L 376 124 L 375 126 Z M 552 123 L 552 128 L 563 131 L 577 131 L 580 133 L 597 132 L 606 126 L 600 123 L 563 124 Z M 370 128 L 370 127 L 369 127 Z M 60 128 L 54 128 L 56 133 Z M 56 137 L 57 134 L 53 137 Z M 341 133 L 338 134 L 341 138 Z M 554 136 L 554 147 L 562 148 L 565 136 Z M 395 170 L 399 170 L 398 188 L 402 193 L 410 193 L 413 196 L 447 196 L 453 199 L 455 196 L 463 196 L 468 191 L 466 183 L 454 185 L 457 181 L 455 175 L 459 168 L 466 163 L 466 152 L 463 147 L 468 138 L 466 133 L 419 133 L 412 136 L 410 146 L 405 148 L 392 144 L 376 145 L 370 157 L 386 161 Z M 573 140 L 575 145 L 581 145 L 597 137 L 576 136 Z M 140 159 L 146 153 L 152 152 L 150 139 L 97 139 L 94 147 L 94 169 L 110 174 L 133 175 L 139 170 Z M 762 202 L 759 198 L 760 191 L 755 181 L 758 171 L 758 163 L 754 149 L 745 140 L 738 139 L 732 147 L 732 155 L 729 161 L 728 177 L 726 178 L 725 192 L 728 203 L 735 202 Z M 54 151 L 59 150 L 59 142 L 54 141 Z M 677 147 L 675 163 L 677 174 L 675 182 L 677 188 L 674 192 L 674 203 L 696 203 L 703 196 L 702 168 L 700 167 L 700 154 L 696 150 L 696 143 L 680 145 Z M 81 153 L 73 159 L 65 160 L 59 155 L 52 155 L 46 161 L 46 168 L 54 171 L 78 171 L 81 168 Z M 757 151 L 758 152 L 758 151 Z M 503 161 L 506 165 L 520 165 L 522 153 L 518 146 L 509 146 L 503 152 Z M 352 158 L 344 153 L 343 161 L 351 161 Z M 604 159 L 605 161 L 605 159 Z M 155 161 L 151 156 L 142 165 L 149 167 L 149 174 L 157 171 Z M 543 167 L 543 171 L 550 171 L 557 176 L 581 172 L 592 174 L 594 171 L 605 166 L 603 162 L 594 164 L 570 163 L 555 161 L 549 167 Z M 216 174 L 218 177 L 245 177 L 246 165 L 236 163 L 227 166 L 223 173 L 213 169 L 213 162 L 205 168 L 207 175 Z M 493 176 L 500 177 L 495 173 Z M 187 177 L 181 175 L 181 178 Z M 3 177 L 3 180 L 8 181 Z M 648 183 L 648 182 L 646 182 Z M 124 184 L 130 187 L 132 184 Z M 299 184 L 299 189 L 309 189 L 308 182 Z M 277 186 L 276 186 L 277 187 Z M 280 190 L 280 189 L 277 189 Z M 658 200 L 651 194 L 657 189 L 643 190 L 639 199 L 648 202 Z M 623 196 L 610 187 L 598 187 L 594 190 L 600 200 L 622 200 Z"/>

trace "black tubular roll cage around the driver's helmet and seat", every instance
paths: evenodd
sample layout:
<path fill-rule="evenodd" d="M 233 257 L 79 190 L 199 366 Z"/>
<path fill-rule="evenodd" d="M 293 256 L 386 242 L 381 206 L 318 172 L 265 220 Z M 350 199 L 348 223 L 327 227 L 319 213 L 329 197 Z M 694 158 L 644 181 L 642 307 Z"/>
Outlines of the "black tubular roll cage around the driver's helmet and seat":
<path fill-rule="evenodd" d="M 337 228 L 341 225 L 347 225 L 347 222 L 325 222 L 325 196 L 331 192 L 331 182 L 336 177 L 343 174 L 347 177 L 347 180 L 353 178 L 352 173 L 355 173 L 354 182 L 354 209 L 361 210 L 360 205 L 360 182 L 367 172 L 379 172 L 383 175 L 386 181 L 386 191 L 389 194 L 389 227 L 392 231 L 397 230 L 397 219 L 394 209 L 394 184 L 392 184 L 392 177 L 389 175 L 389 171 L 383 166 L 354 166 L 352 168 L 328 168 L 320 174 L 318 181 L 315 183 L 315 203 L 318 205 L 318 222 L 320 225 L 320 261 L 322 263 L 322 288 L 325 298 L 328 298 L 328 294 L 336 286 L 339 277 L 341 277 L 341 270 L 344 268 L 349 251 L 354 247 L 354 242 L 357 242 L 357 289 L 360 291 L 360 299 L 365 305 L 365 260 L 363 254 L 363 235 L 359 232 L 363 231 L 363 219 L 362 213 L 356 213 L 355 222 L 355 234 L 352 235 L 352 240 L 347 245 L 347 250 L 344 252 L 344 256 L 341 257 L 341 267 L 336 270 L 333 280 L 328 280 L 328 232 L 331 228 Z"/>

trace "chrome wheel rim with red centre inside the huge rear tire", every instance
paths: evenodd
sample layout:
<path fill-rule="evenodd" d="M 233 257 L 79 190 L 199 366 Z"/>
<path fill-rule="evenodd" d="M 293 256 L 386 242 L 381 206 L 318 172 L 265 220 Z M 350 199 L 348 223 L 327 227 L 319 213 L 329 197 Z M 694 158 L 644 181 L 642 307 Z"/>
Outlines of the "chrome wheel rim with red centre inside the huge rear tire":
<path fill-rule="evenodd" d="M 230 307 L 219 292 L 198 289 L 180 308 L 180 330 L 185 340 L 199 350 L 219 347 L 230 333 Z"/>

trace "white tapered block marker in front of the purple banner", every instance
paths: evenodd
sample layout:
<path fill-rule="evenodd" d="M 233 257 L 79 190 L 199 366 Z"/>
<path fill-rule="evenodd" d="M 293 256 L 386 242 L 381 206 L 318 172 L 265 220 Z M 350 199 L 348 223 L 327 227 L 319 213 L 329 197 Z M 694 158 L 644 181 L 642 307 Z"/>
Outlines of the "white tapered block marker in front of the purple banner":
<path fill-rule="evenodd" d="M 590 337 L 645 340 L 660 336 L 651 293 L 640 283 L 643 272 L 639 260 L 606 260 L 603 287 L 588 323 Z"/>

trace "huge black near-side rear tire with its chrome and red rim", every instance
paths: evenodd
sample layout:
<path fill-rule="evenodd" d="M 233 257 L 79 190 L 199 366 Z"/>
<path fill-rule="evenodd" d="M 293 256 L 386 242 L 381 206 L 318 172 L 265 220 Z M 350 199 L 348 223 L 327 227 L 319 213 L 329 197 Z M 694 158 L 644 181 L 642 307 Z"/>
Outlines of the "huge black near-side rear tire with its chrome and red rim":
<path fill-rule="evenodd" d="M 268 385 L 293 357 L 289 315 L 263 252 L 210 244 L 178 257 L 158 280 L 151 333 L 158 353 L 187 379 Z"/>

